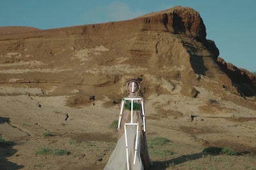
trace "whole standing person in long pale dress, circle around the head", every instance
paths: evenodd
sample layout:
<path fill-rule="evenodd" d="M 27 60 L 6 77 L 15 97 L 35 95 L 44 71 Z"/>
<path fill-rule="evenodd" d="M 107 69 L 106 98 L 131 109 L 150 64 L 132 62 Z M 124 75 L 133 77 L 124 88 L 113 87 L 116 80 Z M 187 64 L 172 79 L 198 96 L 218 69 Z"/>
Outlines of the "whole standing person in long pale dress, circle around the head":
<path fill-rule="evenodd" d="M 118 142 L 104 170 L 145 170 L 152 162 L 148 155 L 146 139 L 145 105 L 143 97 L 137 96 L 140 83 L 127 83 L 128 97 L 121 103 L 118 120 Z"/>

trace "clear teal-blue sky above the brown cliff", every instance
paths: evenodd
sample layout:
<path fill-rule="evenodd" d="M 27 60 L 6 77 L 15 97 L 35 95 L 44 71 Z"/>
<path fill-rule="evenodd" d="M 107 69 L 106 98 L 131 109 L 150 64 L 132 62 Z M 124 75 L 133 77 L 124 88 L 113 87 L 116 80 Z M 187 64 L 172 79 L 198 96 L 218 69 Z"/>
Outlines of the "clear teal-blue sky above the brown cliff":
<path fill-rule="evenodd" d="M 52 29 L 129 20 L 173 6 L 195 9 L 220 57 L 256 72 L 255 0 L 1 0 L 0 27 Z"/>

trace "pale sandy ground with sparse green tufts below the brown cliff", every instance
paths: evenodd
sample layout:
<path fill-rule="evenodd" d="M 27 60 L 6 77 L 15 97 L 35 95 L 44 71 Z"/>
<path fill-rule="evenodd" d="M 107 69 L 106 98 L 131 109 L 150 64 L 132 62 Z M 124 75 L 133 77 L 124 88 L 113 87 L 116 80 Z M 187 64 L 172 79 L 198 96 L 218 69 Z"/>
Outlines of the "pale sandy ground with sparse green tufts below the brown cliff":
<path fill-rule="evenodd" d="M 160 137 L 170 140 L 150 145 L 152 169 L 255 168 L 256 111 L 197 90 L 196 98 L 177 93 L 146 100 L 148 143 Z M 72 97 L 76 94 L 51 96 L 37 88 L 1 86 L 0 169 L 103 169 L 115 148 L 116 131 L 109 126 L 118 119 L 120 105 L 108 97 Z M 45 132 L 51 136 L 43 136 Z M 237 155 L 203 153 L 208 146 L 231 148 Z M 67 154 L 40 155 L 42 148 Z M 163 150 L 172 154 L 156 152 Z"/>

